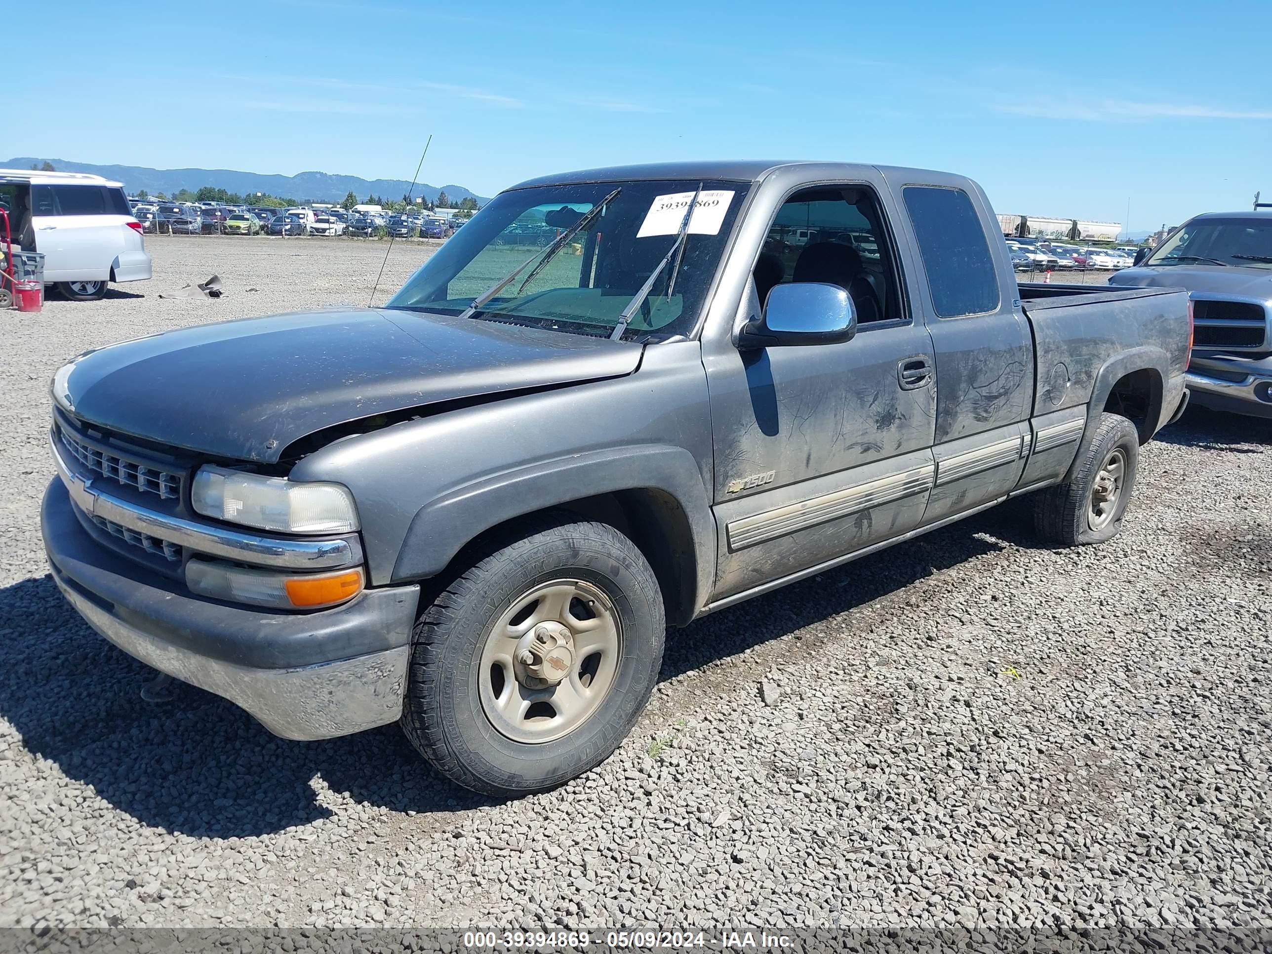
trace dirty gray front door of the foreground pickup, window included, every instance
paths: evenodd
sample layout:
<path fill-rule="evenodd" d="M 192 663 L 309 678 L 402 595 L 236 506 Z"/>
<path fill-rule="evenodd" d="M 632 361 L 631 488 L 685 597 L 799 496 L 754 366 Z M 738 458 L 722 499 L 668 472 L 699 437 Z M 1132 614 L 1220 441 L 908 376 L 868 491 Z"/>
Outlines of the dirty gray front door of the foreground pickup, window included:
<path fill-rule="evenodd" d="M 868 177 L 789 193 L 739 315 L 758 315 L 777 284 L 840 285 L 859 317 L 852 340 L 757 350 L 703 345 L 716 602 L 810 572 L 922 519 L 934 476 L 935 354 L 902 294 L 880 184 Z M 857 240 L 870 234 L 874 257 L 857 251 L 852 233 Z"/>

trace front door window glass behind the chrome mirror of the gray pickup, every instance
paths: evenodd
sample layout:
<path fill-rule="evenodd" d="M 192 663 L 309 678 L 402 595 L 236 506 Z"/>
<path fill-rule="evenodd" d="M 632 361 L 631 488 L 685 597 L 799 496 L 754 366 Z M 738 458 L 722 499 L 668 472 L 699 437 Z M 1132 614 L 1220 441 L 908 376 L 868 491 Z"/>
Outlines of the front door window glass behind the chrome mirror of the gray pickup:
<path fill-rule="evenodd" d="M 754 277 L 761 304 L 776 285 L 818 281 L 846 289 L 861 324 L 906 317 L 883 212 L 864 186 L 817 186 L 786 200 Z"/>

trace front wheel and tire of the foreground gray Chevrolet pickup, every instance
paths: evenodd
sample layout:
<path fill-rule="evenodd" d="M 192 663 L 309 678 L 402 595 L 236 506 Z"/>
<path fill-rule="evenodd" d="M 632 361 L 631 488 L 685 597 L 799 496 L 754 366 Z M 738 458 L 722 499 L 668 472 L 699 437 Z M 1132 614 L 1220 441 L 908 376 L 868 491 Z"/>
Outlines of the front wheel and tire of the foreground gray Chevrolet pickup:
<path fill-rule="evenodd" d="M 618 530 L 569 514 L 472 556 L 416 623 L 402 729 L 473 791 L 555 789 L 607 759 L 645 709 L 663 663 L 658 580 Z M 525 647 L 543 631 L 569 642 L 532 672 Z M 533 674 L 550 663 L 555 686 Z"/>

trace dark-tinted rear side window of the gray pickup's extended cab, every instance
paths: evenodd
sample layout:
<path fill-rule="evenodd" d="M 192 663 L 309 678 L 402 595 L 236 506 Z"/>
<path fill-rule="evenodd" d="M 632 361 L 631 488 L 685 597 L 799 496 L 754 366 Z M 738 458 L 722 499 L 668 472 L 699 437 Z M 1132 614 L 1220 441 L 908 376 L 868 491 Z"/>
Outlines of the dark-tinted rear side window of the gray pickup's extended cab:
<path fill-rule="evenodd" d="M 906 186 L 901 192 L 915 225 L 936 314 L 958 318 L 996 310 L 1001 300 L 999 276 L 967 192 L 936 186 Z"/>

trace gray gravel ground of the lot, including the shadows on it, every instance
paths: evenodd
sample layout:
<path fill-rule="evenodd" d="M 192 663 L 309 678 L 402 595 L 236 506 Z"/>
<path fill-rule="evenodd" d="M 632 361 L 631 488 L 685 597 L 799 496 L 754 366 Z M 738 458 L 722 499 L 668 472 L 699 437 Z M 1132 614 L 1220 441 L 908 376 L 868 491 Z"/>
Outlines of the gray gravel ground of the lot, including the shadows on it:
<path fill-rule="evenodd" d="M 495 803 L 394 726 L 303 744 L 190 687 L 142 702 L 62 603 L 57 365 L 365 301 L 384 249 L 148 245 L 150 282 L 3 315 L 0 926 L 1268 926 L 1272 426 L 1189 412 L 1103 547 L 1010 505 L 673 631 L 613 758 Z M 220 300 L 159 298 L 212 272 Z"/>

